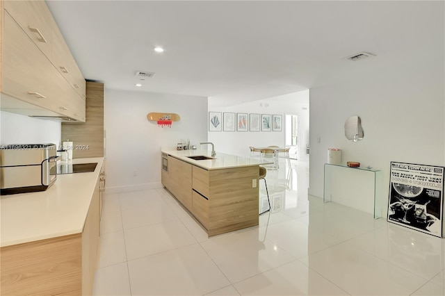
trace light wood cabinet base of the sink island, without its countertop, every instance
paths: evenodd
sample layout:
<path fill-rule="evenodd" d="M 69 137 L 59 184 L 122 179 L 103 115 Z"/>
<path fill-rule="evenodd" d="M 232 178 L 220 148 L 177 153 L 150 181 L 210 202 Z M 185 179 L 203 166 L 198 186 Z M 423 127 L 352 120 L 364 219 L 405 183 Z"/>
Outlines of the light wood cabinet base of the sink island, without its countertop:
<path fill-rule="evenodd" d="M 258 165 L 204 170 L 168 157 L 162 183 L 200 222 L 208 236 L 227 233 L 259 222 Z M 188 195 L 191 198 L 188 198 Z"/>

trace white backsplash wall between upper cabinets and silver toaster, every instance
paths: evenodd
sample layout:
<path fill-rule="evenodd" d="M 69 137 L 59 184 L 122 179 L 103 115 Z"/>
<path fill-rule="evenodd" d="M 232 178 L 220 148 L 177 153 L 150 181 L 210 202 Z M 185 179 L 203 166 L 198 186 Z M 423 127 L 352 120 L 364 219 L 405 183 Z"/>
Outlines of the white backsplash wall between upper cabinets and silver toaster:
<path fill-rule="evenodd" d="M 60 145 L 60 122 L 0 111 L 0 144 Z"/>

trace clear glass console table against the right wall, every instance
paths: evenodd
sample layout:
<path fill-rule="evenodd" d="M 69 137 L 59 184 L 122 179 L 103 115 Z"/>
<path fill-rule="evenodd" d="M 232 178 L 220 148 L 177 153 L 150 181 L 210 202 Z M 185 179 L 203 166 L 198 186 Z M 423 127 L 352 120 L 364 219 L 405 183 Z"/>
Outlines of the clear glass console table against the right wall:
<path fill-rule="evenodd" d="M 355 183 L 354 178 L 356 176 L 358 181 L 364 180 L 368 185 L 360 187 L 359 182 Z M 340 181 L 341 183 L 346 183 L 346 186 L 339 185 Z M 345 197 L 343 199 L 345 206 L 359 210 L 362 210 L 359 207 L 366 206 L 367 208 L 362 211 L 373 213 L 374 219 L 382 217 L 382 172 L 380 170 L 325 163 L 323 202 L 332 202 L 333 190 L 337 191 L 338 188 L 343 190 L 341 196 Z M 360 198 L 364 195 L 371 196 L 370 198 L 373 200 L 362 202 Z M 341 202 L 339 203 L 342 204 Z M 355 207 L 353 203 L 359 206 Z M 373 208 L 371 209 L 370 207 L 372 206 Z"/>

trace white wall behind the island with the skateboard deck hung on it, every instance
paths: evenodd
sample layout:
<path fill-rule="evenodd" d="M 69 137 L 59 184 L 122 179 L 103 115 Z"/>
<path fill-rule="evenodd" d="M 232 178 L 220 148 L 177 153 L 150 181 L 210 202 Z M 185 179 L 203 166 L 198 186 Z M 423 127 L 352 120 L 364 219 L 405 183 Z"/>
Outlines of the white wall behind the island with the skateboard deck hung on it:
<path fill-rule="evenodd" d="M 177 113 L 172 127 L 149 122 L 152 112 Z M 137 190 L 161 186 L 161 147 L 207 141 L 207 97 L 104 90 L 106 188 Z M 136 176 L 133 172 L 136 171 Z"/>

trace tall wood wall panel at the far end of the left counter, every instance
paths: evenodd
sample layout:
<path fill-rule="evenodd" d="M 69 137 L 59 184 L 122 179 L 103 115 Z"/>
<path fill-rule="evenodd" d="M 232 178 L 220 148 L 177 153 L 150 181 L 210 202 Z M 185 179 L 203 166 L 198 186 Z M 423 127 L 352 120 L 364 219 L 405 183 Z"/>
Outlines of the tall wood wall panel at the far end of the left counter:
<path fill-rule="evenodd" d="M 104 156 L 104 83 L 86 82 L 86 122 L 63 122 L 66 140 L 73 142 L 73 158 Z"/>

